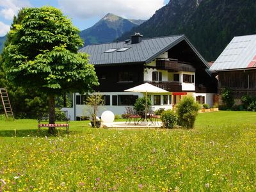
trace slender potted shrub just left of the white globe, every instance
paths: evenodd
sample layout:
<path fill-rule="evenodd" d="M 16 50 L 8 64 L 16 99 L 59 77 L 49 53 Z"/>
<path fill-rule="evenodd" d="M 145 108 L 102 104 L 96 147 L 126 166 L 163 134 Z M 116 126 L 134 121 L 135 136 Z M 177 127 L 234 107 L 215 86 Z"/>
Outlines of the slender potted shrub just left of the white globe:
<path fill-rule="evenodd" d="M 97 112 L 99 109 L 99 106 L 102 105 L 104 100 L 102 99 L 102 95 L 100 94 L 93 94 L 89 95 L 86 99 L 86 104 L 92 108 L 92 114 L 91 114 L 91 124 L 92 127 L 99 128 L 101 125 L 100 118 L 97 116 Z"/>

